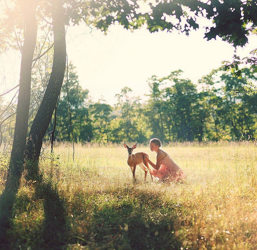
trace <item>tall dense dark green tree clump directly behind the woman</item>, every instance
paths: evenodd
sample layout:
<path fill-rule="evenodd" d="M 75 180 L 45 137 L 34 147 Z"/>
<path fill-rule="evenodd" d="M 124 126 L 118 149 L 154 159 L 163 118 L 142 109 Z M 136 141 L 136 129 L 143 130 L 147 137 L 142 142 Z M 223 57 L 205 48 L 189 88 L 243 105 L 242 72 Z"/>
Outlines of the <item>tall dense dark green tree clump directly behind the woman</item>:
<path fill-rule="evenodd" d="M 164 141 L 201 141 L 207 117 L 197 93 L 189 79 L 180 79 L 182 71 L 171 72 L 167 77 L 148 81 L 151 89 L 147 116 L 152 137 Z M 165 86 L 161 89 L 161 86 Z"/>

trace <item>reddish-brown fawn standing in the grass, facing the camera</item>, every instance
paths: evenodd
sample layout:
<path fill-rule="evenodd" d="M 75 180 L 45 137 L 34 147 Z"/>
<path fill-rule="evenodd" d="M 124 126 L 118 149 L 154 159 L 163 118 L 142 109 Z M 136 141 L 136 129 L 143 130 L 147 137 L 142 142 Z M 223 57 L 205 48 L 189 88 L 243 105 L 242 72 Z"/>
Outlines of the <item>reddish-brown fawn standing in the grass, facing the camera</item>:
<path fill-rule="evenodd" d="M 124 144 L 124 147 L 126 149 L 128 149 L 128 165 L 131 168 L 134 179 L 135 179 L 136 165 L 139 165 L 144 170 L 144 180 L 146 180 L 146 175 L 147 175 L 148 170 L 150 173 L 150 168 L 149 168 L 148 162 L 143 160 L 143 155 L 147 155 L 148 157 L 149 157 L 149 155 L 144 152 L 136 152 L 136 153 L 132 154 L 133 149 L 136 148 L 136 144 L 132 148 L 128 147 L 128 145 L 126 145 L 125 143 L 123 143 L 123 144 Z M 150 175 L 152 178 L 151 173 L 150 173 Z"/>

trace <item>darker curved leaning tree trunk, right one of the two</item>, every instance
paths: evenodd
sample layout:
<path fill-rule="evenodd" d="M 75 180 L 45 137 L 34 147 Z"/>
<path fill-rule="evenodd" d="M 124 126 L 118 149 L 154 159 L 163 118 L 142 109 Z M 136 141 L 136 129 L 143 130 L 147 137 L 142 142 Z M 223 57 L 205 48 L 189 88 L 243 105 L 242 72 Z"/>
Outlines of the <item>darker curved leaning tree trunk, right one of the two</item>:
<path fill-rule="evenodd" d="M 52 73 L 37 115 L 32 123 L 26 146 L 26 158 L 38 162 L 43 138 L 52 119 L 65 73 L 66 42 L 62 1 L 53 3 L 54 55 Z"/>

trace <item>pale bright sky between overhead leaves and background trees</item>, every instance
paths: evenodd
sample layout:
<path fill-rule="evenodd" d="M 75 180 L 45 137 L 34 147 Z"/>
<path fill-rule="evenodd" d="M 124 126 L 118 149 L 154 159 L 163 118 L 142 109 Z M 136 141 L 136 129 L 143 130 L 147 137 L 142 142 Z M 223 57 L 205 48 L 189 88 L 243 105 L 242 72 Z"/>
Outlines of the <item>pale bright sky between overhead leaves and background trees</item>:
<path fill-rule="evenodd" d="M 115 94 L 124 87 L 146 100 L 150 90 L 147 80 L 152 75 L 161 78 L 181 69 L 183 78 L 197 84 L 222 61 L 232 61 L 234 47 L 219 37 L 210 41 L 203 37 L 203 29 L 186 36 L 176 31 L 149 33 L 144 28 L 132 33 L 114 25 L 104 35 L 87 25 L 76 25 L 67 27 L 67 57 L 93 101 L 103 99 L 114 105 Z M 256 44 L 257 36 L 249 37 L 249 44 L 238 48 L 237 53 L 248 56 Z M 20 60 L 19 51 L 0 55 L 0 93 L 19 84 Z"/>

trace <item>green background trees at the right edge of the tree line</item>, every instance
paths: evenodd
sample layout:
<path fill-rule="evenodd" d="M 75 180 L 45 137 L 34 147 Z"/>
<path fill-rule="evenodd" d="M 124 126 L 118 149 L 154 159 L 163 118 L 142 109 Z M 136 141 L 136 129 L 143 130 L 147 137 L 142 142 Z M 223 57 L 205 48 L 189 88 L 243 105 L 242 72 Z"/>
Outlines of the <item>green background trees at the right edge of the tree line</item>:
<path fill-rule="evenodd" d="M 250 69 L 245 68 L 242 69 L 240 78 L 235 78 L 232 74 L 222 71 L 219 72 L 219 76 L 214 71 L 207 78 L 216 81 L 212 82 L 212 87 L 208 90 L 208 103 L 216 135 L 220 137 L 222 133 L 228 133 L 238 139 L 245 130 L 250 135 L 254 135 L 256 133 L 255 97 L 237 93 L 243 88 L 245 82 L 250 79 L 256 81 L 256 76 Z M 209 83 L 210 80 L 206 82 Z M 229 95 L 229 93 L 235 94 Z"/>

